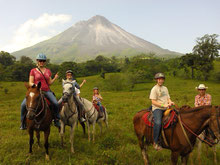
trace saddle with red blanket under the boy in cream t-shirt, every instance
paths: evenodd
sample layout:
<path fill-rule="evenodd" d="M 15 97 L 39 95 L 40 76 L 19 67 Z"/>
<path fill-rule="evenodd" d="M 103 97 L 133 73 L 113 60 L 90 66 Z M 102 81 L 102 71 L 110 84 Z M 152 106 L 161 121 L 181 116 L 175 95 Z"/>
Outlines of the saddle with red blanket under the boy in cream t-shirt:
<path fill-rule="evenodd" d="M 163 129 L 169 128 L 170 126 L 175 126 L 177 121 L 178 121 L 178 117 L 176 112 L 172 109 L 169 110 L 170 113 L 167 114 L 166 116 L 164 115 L 162 118 L 162 125 L 163 125 Z M 166 111 L 164 112 L 164 114 L 166 113 Z M 153 113 L 152 111 L 148 111 L 147 113 L 145 113 L 142 117 L 142 120 L 144 121 L 144 123 L 149 126 L 149 127 L 153 127 L 154 126 L 154 117 L 153 117 Z"/>

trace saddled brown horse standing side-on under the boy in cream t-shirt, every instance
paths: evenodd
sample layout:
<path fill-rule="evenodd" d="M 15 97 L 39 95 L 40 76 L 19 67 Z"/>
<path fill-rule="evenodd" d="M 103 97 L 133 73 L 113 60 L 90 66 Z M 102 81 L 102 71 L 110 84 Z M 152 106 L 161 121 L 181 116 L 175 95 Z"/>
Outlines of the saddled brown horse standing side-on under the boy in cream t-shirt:
<path fill-rule="evenodd" d="M 178 157 L 181 156 L 182 164 L 187 164 L 189 153 L 192 151 L 192 147 L 196 142 L 196 136 L 199 135 L 206 127 L 209 127 L 220 139 L 219 135 L 219 107 L 214 106 L 202 106 L 197 108 L 186 108 L 179 111 L 179 117 L 182 123 L 185 124 L 184 130 L 181 127 L 178 120 L 176 126 L 167 128 L 164 130 L 165 138 L 168 143 L 162 142 L 162 147 L 171 150 L 171 162 L 177 164 Z M 149 164 L 147 155 L 147 145 L 153 143 L 153 128 L 145 124 L 142 116 L 147 110 L 142 110 L 136 113 L 133 118 L 134 130 L 136 132 L 139 145 L 141 148 L 142 156 L 145 164 Z M 186 126 L 192 131 L 186 129 Z M 184 134 L 185 132 L 185 134 Z"/>

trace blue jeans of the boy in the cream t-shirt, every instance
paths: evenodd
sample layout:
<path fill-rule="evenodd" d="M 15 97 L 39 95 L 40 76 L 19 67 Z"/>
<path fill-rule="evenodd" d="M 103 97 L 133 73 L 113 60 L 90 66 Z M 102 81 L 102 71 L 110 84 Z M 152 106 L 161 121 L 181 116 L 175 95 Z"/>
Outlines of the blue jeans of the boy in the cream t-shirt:
<path fill-rule="evenodd" d="M 158 139 L 161 132 L 161 125 L 162 125 L 162 117 L 163 117 L 163 110 L 161 109 L 155 109 L 153 111 L 154 116 L 154 142 L 157 144 Z"/>

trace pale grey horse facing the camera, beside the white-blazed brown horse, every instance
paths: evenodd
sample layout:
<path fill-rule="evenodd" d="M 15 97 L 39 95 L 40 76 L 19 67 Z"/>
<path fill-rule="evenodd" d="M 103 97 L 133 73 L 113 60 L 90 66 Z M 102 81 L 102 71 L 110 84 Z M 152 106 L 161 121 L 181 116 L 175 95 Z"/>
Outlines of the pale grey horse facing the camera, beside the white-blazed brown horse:
<path fill-rule="evenodd" d="M 70 81 L 66 81 L 66 80 L 62 80 L 62 81 L 63 81 L 63 97 L 62 97 L 63 105 L 60 111 L 61 145 L 63 147 L 63 136 L 65 131 L 65 125 L 68 125 L 71 127 L 71 131 L 70 131 L 71 152 L 74 153 L 74 148 L 73 148 L 74 130 L 76 128 L 78 121 L 78 111 L 73 98 L 73 93 L 75 89 Z"/>

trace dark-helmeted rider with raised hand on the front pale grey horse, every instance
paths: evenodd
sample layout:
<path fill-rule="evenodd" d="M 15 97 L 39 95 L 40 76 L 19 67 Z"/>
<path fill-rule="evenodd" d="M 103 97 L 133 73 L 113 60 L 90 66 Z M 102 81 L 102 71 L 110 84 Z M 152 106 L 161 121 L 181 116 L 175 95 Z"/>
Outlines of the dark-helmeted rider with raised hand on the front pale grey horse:
<path fill-rule="evenodd" d="M 76 80 L 73 79 L 73 71 L 72 70 L 67 70 L 66 71 L 66 80 L 71 82 L 73 87 L 75 88 L 74 92 L 74 98 L 77 102 L 77 105 L 79 105 L 78 112 L 79 112 L 79 120 L 80 122 L 85 122 L 86 119 L 83 117 L 83 111 L 85 109 L 81 99 L 80 99 L 80 88 L 83 86 L 83 84 L 86 82 L 86 80 L 83 80 L 83 82 L 79 85 Z M 63 101 L 62 97 L 58 101 L 59 104 L 61 104 Z"/>

